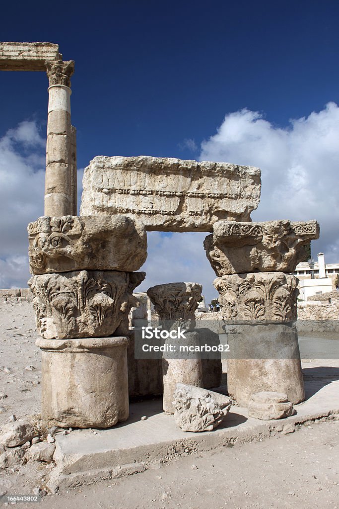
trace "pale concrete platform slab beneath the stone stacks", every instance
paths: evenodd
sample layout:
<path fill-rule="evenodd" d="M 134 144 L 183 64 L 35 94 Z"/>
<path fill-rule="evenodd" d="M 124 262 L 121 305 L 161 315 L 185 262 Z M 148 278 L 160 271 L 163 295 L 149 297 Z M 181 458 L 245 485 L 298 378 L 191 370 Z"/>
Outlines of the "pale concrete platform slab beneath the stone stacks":
<path fill-rule="evenodd" d="M 216 430 L 184 433 L 175 425 L 173 416 L 163 413 L 159 398 L 131 404 L 129 420 L 112 429 L 57 434 L 56 467 L 48 487 L 55 492 L 131 475 L 179 456 L 290 433 L 310 420 L 339 418 L 339 361 L 305 361 L 303 376 L 306 401 L 295 405 L 296 414 L 287 419 L 261 421 L 248 417 L 247 409 L 234 405 Z M 141 420 L 143 415 L 146 420 Z"/>

